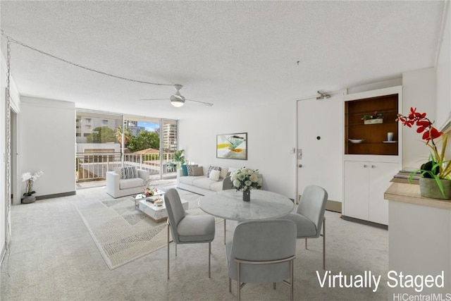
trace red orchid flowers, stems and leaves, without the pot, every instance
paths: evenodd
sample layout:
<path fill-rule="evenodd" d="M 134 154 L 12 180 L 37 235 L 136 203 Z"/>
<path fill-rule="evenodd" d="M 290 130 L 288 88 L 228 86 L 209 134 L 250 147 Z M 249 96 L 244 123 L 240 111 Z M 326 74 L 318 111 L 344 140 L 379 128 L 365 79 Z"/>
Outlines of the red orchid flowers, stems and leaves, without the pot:
<path fill-rule="evenodd" d="M 416 125 L 418 127 L 416 128 L 416 133 L 423 133 L 421 138 L 431 148 L 428 161 L 422 164 L 419 169 L 410 173 L 409 181 L 412 182 L 412 178 L 416 173 L 421 173 L 421 176 L 424 178 L 434 178 L 438 188 L 440 188 L 440 192 L 445 196 L 440 179 L 450 179 L 451 174 L 451 160 L 445 159 L 448 136 L 434 128 L 433 122 L 429 118 L 426 118 L 426 113 L 419 113 L 416 111 L 416 108 L 410 108 L 408 116 L 403 116 L 401 113 L 397 116 L 396 121 L 401 121 L 408 128 Z M 435 139 L 440 137 L 442 137 L 442 149 L 439 151 L 438 142 Z"/>

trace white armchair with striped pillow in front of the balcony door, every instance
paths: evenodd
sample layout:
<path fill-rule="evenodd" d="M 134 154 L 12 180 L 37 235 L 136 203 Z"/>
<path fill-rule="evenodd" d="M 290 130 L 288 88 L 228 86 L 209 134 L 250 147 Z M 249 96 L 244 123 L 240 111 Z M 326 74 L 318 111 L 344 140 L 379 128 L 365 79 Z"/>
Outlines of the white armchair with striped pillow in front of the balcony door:
<path fill-rule="evenodd" d="M 142 184 L 144 180 L 149 178 L 149 171 L 139 168 L 134 168 L 134 170 L 132 176 L 130 174 L 124 175 L 121 167 L 114 168 L 114 171 L 108 171 L 106 173 L 106 193 L 115 199 L 116 197 L 142 193 Z"/>

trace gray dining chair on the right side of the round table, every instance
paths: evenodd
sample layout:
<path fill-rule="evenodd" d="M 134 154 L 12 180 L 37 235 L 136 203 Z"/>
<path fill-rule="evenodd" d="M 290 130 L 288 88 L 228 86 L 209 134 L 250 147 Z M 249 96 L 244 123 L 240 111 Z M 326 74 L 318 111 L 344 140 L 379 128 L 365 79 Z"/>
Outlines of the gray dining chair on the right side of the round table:
<path fill-rule="evenodd" d="M 281 219 L 294 221 L 297 227 L 297 238 L 305 238 L 307 250 L 308 238 L 323 237 L 323 269 L 326 269 L 326 202 L 328 193 L 318 185 L 309 185 L 302 192 L 297 211 L 283 216 Z M 323 234 L 321 234 L 323 228 Z"/>

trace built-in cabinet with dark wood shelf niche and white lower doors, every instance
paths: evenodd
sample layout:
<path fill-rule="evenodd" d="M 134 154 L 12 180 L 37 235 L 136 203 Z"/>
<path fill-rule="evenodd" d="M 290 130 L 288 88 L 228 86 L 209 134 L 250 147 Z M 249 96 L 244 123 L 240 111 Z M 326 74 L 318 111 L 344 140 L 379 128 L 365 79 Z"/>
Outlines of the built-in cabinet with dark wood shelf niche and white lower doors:
<path fill-rule="evenodd" d="M 402 166 L 402 87 L 348 94 L 344 106 L 343 217 L 388 225 L 384 192 Z M 365 123 L 377 114 L 383 120 Z"/>

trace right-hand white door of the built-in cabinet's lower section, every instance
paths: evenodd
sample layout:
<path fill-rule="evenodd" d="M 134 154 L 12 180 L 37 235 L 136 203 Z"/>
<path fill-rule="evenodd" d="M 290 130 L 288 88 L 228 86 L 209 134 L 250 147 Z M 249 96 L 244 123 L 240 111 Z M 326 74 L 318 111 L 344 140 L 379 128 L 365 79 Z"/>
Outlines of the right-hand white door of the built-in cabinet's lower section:
<path fill-rule="evenodd" d="M 369 164 L 369 221 L 388 225 L 388 201 L 383 198 L 383 194 L 399 171 L 399 166 L 397 163 Z"/>

